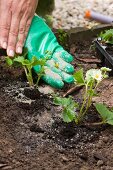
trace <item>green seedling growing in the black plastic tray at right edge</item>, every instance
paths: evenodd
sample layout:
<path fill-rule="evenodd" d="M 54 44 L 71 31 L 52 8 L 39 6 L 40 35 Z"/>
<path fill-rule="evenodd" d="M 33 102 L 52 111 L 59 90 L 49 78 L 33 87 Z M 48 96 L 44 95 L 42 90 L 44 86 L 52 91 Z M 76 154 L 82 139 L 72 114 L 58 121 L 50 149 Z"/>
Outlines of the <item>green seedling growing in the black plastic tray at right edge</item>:
<path fill-rule="evenodd" d="M 99 35 L 102 43 L 113 44 L 113 29 L 106 30 Z"/>

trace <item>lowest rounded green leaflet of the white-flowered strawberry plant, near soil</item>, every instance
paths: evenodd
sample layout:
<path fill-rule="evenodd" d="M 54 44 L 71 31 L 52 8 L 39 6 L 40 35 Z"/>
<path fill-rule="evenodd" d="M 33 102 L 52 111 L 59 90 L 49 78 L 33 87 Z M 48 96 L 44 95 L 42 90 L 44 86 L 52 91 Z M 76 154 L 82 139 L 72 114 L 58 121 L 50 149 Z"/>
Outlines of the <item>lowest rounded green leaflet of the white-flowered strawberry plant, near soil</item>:
<path fill-rule="evenodd" d="M 63 121 L 66 123 L 72 122 L 75 116 L 75 112 L 70 109 L 64 109 L 62 112 Z"/>

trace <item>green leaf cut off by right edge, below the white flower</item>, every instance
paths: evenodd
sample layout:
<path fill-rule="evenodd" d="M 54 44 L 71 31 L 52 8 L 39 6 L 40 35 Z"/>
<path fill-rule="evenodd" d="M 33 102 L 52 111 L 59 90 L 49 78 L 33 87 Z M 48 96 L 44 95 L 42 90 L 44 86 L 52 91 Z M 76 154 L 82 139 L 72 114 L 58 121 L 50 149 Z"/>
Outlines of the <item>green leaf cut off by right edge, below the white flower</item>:
<path fill-rule="evenodd" d="M 103 122 L 113 125 L 113 112 L 111 112 L 105 105 L 102 103 L 96 103 L 95 107 L 98 113 L 101 115 Z"/>

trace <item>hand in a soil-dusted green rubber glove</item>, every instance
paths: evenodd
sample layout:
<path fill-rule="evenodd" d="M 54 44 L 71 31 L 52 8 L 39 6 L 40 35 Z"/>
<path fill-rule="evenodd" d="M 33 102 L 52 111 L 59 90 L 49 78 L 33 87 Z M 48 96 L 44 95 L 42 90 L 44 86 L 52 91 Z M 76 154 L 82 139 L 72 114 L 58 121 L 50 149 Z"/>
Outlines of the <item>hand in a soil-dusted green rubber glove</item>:
<path fill-rule="evenodd" d="M 25 47 L 28 48 L 29 60 L 33 56 L 45 57 L 45 51 L 52 52 L 51 59 L 45 65 L 45 75 L 42 76 L 47 84 L 55 88 L 62 88 L 64 82 L 73 82 L 73 76 L 70 74 L 74 72 L 74 68 L 70 64 L 73 57 L 59 45 L 55 35 L 42 18 L 34 16 Z M 34 70 L 38 73 L 40 66 L 35 66 Z"/>

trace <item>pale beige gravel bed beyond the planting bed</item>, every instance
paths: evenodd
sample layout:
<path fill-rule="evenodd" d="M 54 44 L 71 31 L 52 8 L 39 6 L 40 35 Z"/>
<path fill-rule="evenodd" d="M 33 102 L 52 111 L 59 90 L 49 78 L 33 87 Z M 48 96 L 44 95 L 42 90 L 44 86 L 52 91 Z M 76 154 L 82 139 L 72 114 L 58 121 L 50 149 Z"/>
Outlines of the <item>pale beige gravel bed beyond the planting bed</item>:
<path fill-rule="evenodd" d="M 84 18 L 87 9 L 113 16 L 113 0 L 55 0 L 53 27 L 70 29 L 97 25 L 95 21 Z"/>

